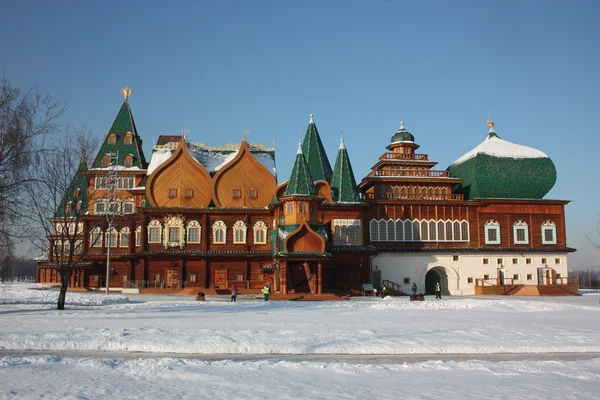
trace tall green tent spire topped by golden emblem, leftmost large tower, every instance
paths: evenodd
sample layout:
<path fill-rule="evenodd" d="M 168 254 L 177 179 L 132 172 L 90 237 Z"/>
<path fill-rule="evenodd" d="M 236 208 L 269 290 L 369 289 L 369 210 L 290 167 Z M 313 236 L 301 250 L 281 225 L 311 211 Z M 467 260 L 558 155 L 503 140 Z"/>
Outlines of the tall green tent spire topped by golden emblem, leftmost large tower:
<path fill-rule="evenodd" d="M 115 121 L 110 127 L 108 134 L 104 138 L 100 151 L 98 151 L 98 155 L 92 163 L 92 168 L 102 168 L 102 158 L 111 152 L 118 152 L 118 165 L 120 166 L 124 166 L 125 157 L 130 156 L 132 162 L 131 167 L 140 169 L 146 169 L 148 167 L 146 157 L 142 151 L 142 138 L 140 138 L 137 133 L 133 115 L 131 114 L 131 109 L 129 107 L 128 97 L 131 94 L 131 89 L 124 88 L 121 92 L 125 96 L 125 101 L 123 102 Z M 126 144 L 125 141 L 128 133 L 131 134 L 131 140 Z M 116 135 L 115 138 L 112 138 L 113 134 Z M 114 140 L 114 143 L 111 142 L 112 140 Z"/>

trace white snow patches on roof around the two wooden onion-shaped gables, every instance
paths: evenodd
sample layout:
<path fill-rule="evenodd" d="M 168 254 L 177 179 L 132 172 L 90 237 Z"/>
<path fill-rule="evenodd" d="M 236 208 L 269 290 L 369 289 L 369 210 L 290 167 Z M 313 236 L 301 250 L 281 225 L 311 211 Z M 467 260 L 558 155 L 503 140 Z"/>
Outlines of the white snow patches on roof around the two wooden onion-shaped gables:
<path fill-rule="evenodd" d="M 206 146 L 203 143 L 188 143 L 188 151 L 192 158 L 204 166 L 210 173 L 217 172 L 235 158 L 240 150 L 239 143 L 226 144 L 225 146 Z M 147 175 L 152 174 L 156 168 L 167 161 L 176 149 L 176 143 L 156 145 L 150 158 Z M 261 144 L 248 144 L 250 153 L 265 166 L 273 176 L 277 176 L 275 168 L 275 148 L 265 147 Z"/>

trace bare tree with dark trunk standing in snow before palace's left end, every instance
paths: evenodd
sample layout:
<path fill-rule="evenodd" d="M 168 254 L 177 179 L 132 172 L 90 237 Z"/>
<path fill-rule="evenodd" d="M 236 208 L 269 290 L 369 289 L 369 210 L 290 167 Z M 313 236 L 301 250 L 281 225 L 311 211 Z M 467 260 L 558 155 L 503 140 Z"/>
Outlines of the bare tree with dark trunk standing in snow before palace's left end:
<path fill-rule="evenodd" d="M 85 216 L 93 194 L 85 172 L 98 140 L 84 130 L 67 130 L 58 137 L 57 144 L 41 154 L 26 188 L 29 234 L 34 245 L 45 251 L 46 265 L 60 276 L 57 308 L 64 310 L 73 271 L 87 262 Z"/>

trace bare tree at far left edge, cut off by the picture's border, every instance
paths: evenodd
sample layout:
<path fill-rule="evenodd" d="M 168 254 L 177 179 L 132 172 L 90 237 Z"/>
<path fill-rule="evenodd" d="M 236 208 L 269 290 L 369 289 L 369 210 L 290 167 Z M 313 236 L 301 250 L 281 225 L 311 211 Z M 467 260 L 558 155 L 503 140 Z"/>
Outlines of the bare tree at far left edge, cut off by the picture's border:
<path fill-rule="evenodd" d="M 0 78 L 0 250 L 6 253 L 28 236 L 17 224 L 26 213 L 24 185 L 34 179 L 33 166 L 64 109 L 36 87 L 22 91 Z"/>

